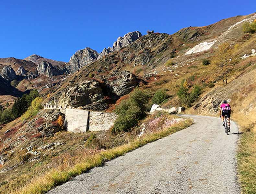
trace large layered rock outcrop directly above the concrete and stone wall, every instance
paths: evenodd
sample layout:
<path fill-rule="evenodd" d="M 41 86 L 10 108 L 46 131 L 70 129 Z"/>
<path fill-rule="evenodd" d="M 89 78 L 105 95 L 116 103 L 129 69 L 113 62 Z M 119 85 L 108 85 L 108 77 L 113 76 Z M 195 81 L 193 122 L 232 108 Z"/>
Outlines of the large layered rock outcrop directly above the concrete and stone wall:
<path fill-rule="evenodd" d="M 62 95 L 59 103 L 63 106 L 81 107 L 87 110 L 104 110 L 108 107 L 104 102 L 100 83 L 94 80 L 83 81 L 69 88 Z"/>

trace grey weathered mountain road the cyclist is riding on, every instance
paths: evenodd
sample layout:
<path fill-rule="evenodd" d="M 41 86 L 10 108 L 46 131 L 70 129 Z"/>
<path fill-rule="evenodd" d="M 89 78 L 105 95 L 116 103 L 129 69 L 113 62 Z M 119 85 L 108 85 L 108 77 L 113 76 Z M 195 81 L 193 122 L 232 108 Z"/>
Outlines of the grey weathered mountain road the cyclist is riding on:
<path fill-rule="evenodd" d="M 194 119 L 187 129 L 106 162 L 49 194 L 240 193 L 236 180 L 238 127 L 224 133 L 215 117 Z"/>

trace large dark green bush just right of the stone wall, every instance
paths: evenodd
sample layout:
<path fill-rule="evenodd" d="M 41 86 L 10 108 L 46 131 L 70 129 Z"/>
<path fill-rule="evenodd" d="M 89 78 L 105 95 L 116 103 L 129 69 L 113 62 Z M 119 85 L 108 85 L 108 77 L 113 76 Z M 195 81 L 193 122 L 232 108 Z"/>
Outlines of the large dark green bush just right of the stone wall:
<path fill-rule="evenodd" d="M 130 98 L 116 107 L 115 112 L 118 118 L 113 125 L 112 133 L 129 131 L 140 119 L 144 118 L 149 98 L 150 95 L 146 91 L 135 88 Z"/>

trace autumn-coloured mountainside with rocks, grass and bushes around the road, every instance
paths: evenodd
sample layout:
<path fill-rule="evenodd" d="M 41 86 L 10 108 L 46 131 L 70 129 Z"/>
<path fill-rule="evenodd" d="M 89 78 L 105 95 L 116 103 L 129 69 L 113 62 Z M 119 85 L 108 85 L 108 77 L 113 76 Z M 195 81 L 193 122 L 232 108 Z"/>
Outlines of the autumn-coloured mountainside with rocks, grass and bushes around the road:
<path fill-rule="evenodd" d="M 232 119 L 243 132 L 238 153 L 242 190 L 256 193 L 256 33 L 247 30 L 254 29 L 255 18 L 236 16 L 173 35 L 150 32 L 45 88 L 43 101 L 36 98 L 29 112 L 0 129 L 0 156 L 5 158 L 0 193 L 43 193 L 191 124 L 177 126 L 169 114 L 146 115 L 153 103 L 219 116 L 223 100 L 231 104 Z M 75 108 L 100 107 L 118 114 L 111 130 L 73 134 L 64 130 L 58 110 L 37 113 L 41 102 L 69 105 L 85 96 L 90 101 Z M 145 136 L 138 138 L 143 124 Z"/>

